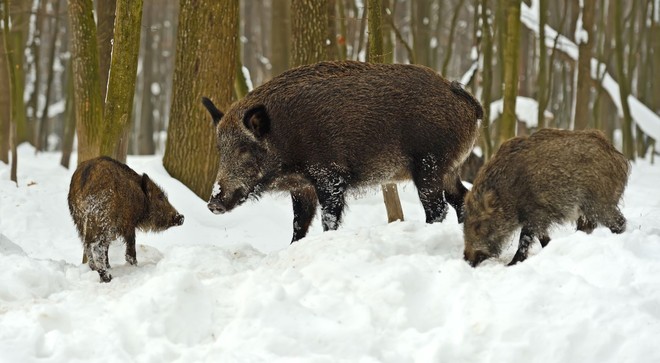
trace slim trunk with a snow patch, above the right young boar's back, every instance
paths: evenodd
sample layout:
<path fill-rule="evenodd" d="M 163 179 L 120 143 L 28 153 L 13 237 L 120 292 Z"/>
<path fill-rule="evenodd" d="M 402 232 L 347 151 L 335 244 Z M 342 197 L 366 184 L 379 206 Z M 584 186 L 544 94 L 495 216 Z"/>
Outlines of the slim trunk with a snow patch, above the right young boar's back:
<path fill-rule="evenodd" d="M 582 0 L 581 9 L 582 27 L 576 30 L 576 43 L 578 44 L 577 91 L 575 96 L 575 116 L 573 117 L 576 130 L 589 127 L 589 99 L 591 98 L 591 58 L 594 41 L 594 0 Z M 582 33 L 584 32 L 584 33 Z"/>

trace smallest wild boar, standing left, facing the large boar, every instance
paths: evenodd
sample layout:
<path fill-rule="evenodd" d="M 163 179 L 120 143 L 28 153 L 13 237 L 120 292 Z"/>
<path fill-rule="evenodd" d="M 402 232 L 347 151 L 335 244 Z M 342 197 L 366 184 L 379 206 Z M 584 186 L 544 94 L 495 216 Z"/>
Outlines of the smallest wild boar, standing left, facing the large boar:
<path fill-rule="evenodd" d="M 102 282 L 107 272 L 108 246 L 117 238 L 126 243 L 126 261 L 137 263 L 135 229 L 163 231 L 183 224 L 183 216 L 165 193 L 149 179 L 109 157 L 81 163 L 71 178 L 69 211 L 85 248 L 85 257 Z"/>

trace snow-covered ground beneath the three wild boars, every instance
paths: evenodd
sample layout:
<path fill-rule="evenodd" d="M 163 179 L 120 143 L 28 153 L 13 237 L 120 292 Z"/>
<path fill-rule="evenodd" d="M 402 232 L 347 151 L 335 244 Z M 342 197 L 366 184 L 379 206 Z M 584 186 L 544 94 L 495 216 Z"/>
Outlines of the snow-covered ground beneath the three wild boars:
<path fill-rule="evenodd" d="M 660 362 L 660 167 L 633 166 L 628 230 L 556 228 L 514 267 L 462 260 L 452 212 L 405 222 L 380 192 L 349 200 L 340 230 L 289 246 L 291 205 L 269 195 L 227 215 L 129 157 L 186 216 L 139 233 L 138 265 L 111 246 L 114 279 L 81 265 L 59 154 L 0 164 L 0 362 Z"/>

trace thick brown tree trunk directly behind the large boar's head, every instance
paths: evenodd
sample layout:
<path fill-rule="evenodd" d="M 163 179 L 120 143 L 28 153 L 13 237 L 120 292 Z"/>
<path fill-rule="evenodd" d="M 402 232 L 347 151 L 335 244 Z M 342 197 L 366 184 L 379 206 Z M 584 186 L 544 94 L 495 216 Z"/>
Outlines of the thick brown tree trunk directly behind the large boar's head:
<path fill-rule="evenodd" d="M 203 14 L 203 16 L 200 16 Z M 174 91 L 163 164 L 197 196 L 211 194 L 218 168 L 213 123 L 200 102 L 231 103 L 236 65 L 237 1 L 182 0 Z"/>

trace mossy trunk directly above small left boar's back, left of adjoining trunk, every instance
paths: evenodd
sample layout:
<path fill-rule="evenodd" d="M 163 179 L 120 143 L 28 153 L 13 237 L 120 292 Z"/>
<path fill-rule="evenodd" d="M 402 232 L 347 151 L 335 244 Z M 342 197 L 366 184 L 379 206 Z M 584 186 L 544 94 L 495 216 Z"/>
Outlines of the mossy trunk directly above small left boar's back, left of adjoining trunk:
<path fill-rule="evenodd" d="M 101 154 L 103 100 L 92 0 L 69 0 L 78 164 Z"/>

